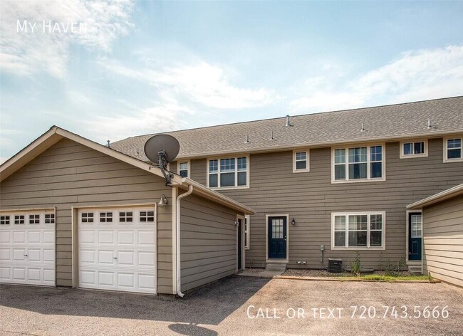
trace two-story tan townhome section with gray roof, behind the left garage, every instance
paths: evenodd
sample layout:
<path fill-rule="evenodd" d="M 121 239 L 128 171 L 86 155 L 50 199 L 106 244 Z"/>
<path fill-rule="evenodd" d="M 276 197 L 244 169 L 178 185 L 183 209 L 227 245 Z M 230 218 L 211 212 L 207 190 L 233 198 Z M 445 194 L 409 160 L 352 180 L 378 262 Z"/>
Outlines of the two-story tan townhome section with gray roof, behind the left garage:
<path fill-rule="evenodd" d="M 359 251 L 365 267 L 420 268 L 422 214 L 407 205 L 463 183 L 462 97 L 168 134 L 181 146 L 172 172 L 256 211 L 246 267 L 326 268 Z M 111 147 L 146 160 L 150 136 Z"/>

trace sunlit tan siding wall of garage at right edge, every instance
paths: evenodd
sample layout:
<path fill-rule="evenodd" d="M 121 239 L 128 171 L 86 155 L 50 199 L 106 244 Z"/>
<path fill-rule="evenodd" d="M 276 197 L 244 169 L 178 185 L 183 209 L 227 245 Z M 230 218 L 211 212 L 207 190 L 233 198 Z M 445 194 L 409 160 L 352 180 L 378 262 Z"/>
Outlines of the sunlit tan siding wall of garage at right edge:
<path fill-rule="evenodd" d="M 423 209 L 423 273 L 463 286 L 463 195 Z"/>

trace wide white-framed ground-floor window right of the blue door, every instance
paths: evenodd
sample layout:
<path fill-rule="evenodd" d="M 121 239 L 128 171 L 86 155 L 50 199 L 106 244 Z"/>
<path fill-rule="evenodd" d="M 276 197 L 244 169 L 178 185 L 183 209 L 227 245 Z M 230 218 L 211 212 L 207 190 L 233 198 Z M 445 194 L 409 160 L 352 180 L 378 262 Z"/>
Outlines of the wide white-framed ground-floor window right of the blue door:
<path fill-rule="evenodd" d="M 332 214 L 332 247 L 385 247 L 385 212 Z"/>

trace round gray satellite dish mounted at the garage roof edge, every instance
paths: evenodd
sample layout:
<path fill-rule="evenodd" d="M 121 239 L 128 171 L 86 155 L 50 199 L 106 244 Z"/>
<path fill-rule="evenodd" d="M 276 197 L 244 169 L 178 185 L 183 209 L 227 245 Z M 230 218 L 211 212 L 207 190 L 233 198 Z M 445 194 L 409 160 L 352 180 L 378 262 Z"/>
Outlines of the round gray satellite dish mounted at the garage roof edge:
<path fill-rule="evenodd" d="M 145 142 L 145 154 L 151 162 L 159 164 L 165 177 L 165 184 L 170 186 L 172 174 L 167 172 L 167 164 L 177 157 L 180 143 L 175 137 L 167 134 L 154 135 Z"/>

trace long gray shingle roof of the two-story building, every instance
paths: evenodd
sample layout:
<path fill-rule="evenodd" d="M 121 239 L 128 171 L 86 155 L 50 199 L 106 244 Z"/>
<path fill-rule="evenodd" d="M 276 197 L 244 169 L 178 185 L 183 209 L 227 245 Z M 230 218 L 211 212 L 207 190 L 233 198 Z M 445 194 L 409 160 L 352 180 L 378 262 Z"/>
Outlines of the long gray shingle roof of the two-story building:
<path fill-rule="evenodd" d="M 427 128 L 431 119 L 432 128 Z M 322 112 L 229 125 L 166 132 L 180 142 L 178 157 L 207 157 L 231 152 L 256 152 L 336 142 L 358 142 L 463 132 L 463 96 L 415 103 Z M 361 125 L 366 131 L 361 132 Z M 273 132 L 274 140 L 271 140 Z M 111 148 L 147 160 L 143 148 L 152 135 L 129 137 Z M 249 143 L 246 143 L 249 136 Z"/>

